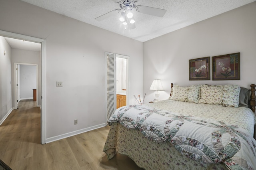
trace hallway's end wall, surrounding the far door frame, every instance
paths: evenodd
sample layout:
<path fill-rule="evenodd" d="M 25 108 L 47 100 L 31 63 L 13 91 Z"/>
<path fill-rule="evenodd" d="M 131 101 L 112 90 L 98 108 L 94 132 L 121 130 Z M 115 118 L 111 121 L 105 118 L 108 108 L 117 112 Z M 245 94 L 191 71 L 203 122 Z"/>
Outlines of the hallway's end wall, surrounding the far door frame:
<path fill-rule="evenodd" d="M 12 49 L 12 82 L 14 82 L 14 63 L 26 63 L 26 64 L 38 65 L 38 96 L 41 96 L 41 54 L 40 52 L 28 51 L 23 49 Z M 13 99 L 12 106 L 14 106 L 14 90 L 16 90 L 16 88 L 15 86 L 12 86 L 12 99 Z M 38 100 L 38 105 L 41 105 L 41 100 Z"/>

